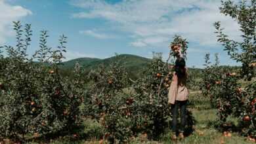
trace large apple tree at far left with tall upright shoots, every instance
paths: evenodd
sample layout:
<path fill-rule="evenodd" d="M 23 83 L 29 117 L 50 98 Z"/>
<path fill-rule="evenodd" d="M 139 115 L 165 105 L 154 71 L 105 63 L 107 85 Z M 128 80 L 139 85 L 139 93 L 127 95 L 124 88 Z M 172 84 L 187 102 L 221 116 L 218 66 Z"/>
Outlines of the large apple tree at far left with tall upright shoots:
<path fill-rule="evenodd" d="M 58 65 L 64 58 L 66 37 L 60 37 L 56 50 L 47 46 L 47 31 L 41 31 L 39 50 L 28 58 L 32 30 L 30 24 L 22 29 L 14 22 L 16 46 L 3 46 L 7 57 L 1 57 L 1 138 L 24 140 L 25 135 L 45 137 L 68 132 L 79 122 L 83 90 L 80 69 L 69 81 L 59 75 Z M 33 62 L 33 60 L 39 62 Z M 45 65 L 43 63 L 49 63 Z"/>

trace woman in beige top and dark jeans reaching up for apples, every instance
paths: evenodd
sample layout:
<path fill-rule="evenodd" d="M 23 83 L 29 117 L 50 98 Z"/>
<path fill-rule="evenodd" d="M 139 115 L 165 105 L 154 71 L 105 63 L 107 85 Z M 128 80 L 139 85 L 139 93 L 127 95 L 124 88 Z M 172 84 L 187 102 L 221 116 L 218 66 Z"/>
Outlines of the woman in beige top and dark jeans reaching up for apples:
<path fill-rule="evenodd" d="M 188 101 L 188 88 L 186 87 L 186 80 L 188 79 L 188 73 L 186 69 L 186 62 L 184 58 L 178 57 L 175 61 L 175 72 L 173 73 L 173 80 L 169 88 L 168 103 L 171 104 L 171 113 L 173 115 L 172 139 L 177 139 L 177 116 L 178 109 L 181 109 L 181 128 L 179 137 L 184 138 L 184 127 L 186 124 L 186 103 Z"/>

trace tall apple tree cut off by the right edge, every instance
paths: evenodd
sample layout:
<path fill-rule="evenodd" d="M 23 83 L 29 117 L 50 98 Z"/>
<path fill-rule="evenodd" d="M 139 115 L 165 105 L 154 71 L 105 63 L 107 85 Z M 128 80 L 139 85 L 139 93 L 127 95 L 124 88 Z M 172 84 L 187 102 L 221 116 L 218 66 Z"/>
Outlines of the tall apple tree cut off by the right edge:
<path fill-rule="evenodd" d="M 232 19 L 238 22 L 240 31 L 242 32 L 242 41 L 238 42 L 228 38 L 228 35 L 223 33 L 221 23 L 216 22 L 215 33 L 217 33 L 217 37 L 219 37 L 218 41 L 224 46 L 224 50 L 228 52 L 230 58 L 242 63 L 242 69 L 240 71 L 241 78 L 251 81 L 251 79 L 255 77 L 256 67 L 256 1 L 242 1 L 239 4 L 236 4 L 230 0 L 221 2 L 221 13 L 225 14 L 226 16 L 230 16 Z M 248 135 L 249 137 L 255 138 L 256 115 L 254 113 L 255 105 L 252 103 L 253 99 L 256 98 L 255 81 L 246 86 L 245 92 L 240 92 L 240 90 L 238 91 L 238 96 L 234 95 L 234 97 L 238 98 L 239 100 L 237 103 L 232 105 L 232 107 L 235 109 L 234 115 L 240 118 L 240 125 L 244 127 L 242 129 L 242 133 Z"/>

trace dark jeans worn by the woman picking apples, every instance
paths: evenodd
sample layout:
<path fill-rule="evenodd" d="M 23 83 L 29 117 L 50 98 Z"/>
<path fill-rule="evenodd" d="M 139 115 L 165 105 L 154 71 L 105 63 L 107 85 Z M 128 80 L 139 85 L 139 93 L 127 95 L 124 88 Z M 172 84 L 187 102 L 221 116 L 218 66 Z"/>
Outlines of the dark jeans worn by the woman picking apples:
<path fill-rule="evenodd" d="M 173 132 L 177 133 L 177 117 L 178 117 L 178 109 L 181 109 L 181 128 L 180 132 L 184 132 L 184 128 L 186 125 L 186 103 L 187 101 L 175 101 L 174 105 L 171 105 L 171 113 L 173 114 Z"/>

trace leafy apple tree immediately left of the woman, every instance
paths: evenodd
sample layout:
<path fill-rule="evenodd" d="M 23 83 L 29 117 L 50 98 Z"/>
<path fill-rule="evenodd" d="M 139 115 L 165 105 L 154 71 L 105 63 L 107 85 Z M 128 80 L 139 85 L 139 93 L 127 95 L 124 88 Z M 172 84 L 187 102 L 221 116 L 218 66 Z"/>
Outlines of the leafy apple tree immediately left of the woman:
<path fill-rule="evenodd" d="M 140 111 L 137 114 L 139 120 L 146 121 L 147 125 L 139 124 L 142 131 L 151 137 L 163 132 L 167 127 L 171 112 L 167 105 L 167 92 L 171 84 L 172 70 L 162 61 L 161 53 L 154 53 L 154 58 L 143 77 L 133 84 L 137 96 Z"/>

